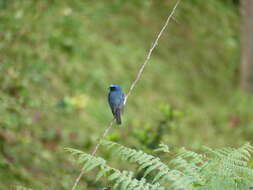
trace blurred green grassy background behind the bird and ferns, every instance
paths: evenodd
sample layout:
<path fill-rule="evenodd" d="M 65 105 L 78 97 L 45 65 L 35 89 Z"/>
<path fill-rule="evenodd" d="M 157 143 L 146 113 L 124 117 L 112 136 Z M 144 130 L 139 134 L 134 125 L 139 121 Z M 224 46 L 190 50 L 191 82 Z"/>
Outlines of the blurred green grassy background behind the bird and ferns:
<path fill-rule="evenodd" d="M 92 150 L 112 118 L 108 86 L 128 91 L 175 3 L 0 0 L 0 189 L 71 188 L 80 168 L 64 148 Z M 250 142 L 238 1 L 182 0 L 174 17 L 108 139 L 145 151 Z"/>

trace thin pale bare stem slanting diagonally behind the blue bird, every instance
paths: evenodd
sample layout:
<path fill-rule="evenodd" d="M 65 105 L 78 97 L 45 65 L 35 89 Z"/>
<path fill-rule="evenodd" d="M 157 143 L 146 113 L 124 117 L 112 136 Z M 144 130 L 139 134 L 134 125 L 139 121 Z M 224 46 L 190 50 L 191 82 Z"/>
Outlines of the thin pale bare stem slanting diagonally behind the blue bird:
<path fill-rule="evenodd" d="M 147 56 L 146 56 L 146 59 L 145 59 L 144 63 L 142 64 L 142 66 L 141 66 L 141 68 L 140 68 L 140 70 L 139 70 L 139 72 L 138 72 L 138 74 L 137 74 L 135 80 L 134 80 L 133 83 L 131 84 L 130 89 L 129 89 L 129 91 L 128 91 L 126 97 L 125 97 L 124 105 L 127 103 L 128 97 L 129 97 L 130 94 L 132 93 L 132 91 L 133 91 L 134 87 L 136 86 L 137 82 L 140 80 L 141 75 L 142 75 L 142 73 L 143 73 L 143 71 L 144 71 L 144 68 L 145 68 L 146 65 L 148 64 L 148 61 L 149 61 L 149 59 L 150 59 L 150 57 L 151 57 L 151 55 L 152 55 L 153 50 L 154 50 L 155 47 L 158 45 L 158 41 L 159 41 L 160 37 L 162 36 L 162 34 L 163 34 L 164 30 L 166 29 L 167 25 L 169 24 L 171 18 L 173 19 L 173 14 L 174 14 L 174 12 L 175 12 L 175 10 L 176 10 L 176 8 L 177 8 L 177 6 L 178 6 L 179 3 L 180 3 L 180 0 L 178 0 L 177 3 L 175 4 L 175 6 L 173 7 L 173 9 L 172 9 L 171 13 L 169 14 L 169 16 L 168 16 L 166 22 L 164 23 L 162 29 L 161 29 L 160 32 L 158 33 L 158 35 L 157 35 L 155 41 L 153 42 L 151 48 L 149 49 L 148 54 L 147 54 Z M 115 119 L 113 119 L 113 120 L 111 121 L 111 123 L 109 124 L 109 126 L 105 129 L 103 135 L 102 135 L 102 136 L 100 137 L 100 139 L 99 139 L 98 144 L 95 146 L 95 148 L 94 148 L 94 150 L 93 150 L 93 152 L 92 152 L 92 154 L 91 154 L 92 156 L 94 156 L 94 155 L 96 154 L 96 152 L 98 151 L 98 148 L 99 148 L 100 145 L 101 145 L 101 141 L 107 136 L 107 134 L 109 133 L 110 129 L 112 128 L 114 122 L 115 122 Z M 76 180 L 75 180 L 75 183 L 74 183 L 74 185 L 73 185 L 73 187 L 72 187 L 72 190 L 75 190 L 75 189 L 76 189 L 76 186 L 77 186 L 77 184 L 79 183 L 79 181 L 81 180 L 81 178 L 82 178 L 82 176 L 84 175 L 84 173 L 85 173 L 84 170 L 82 170 L 82 171 L 80 172 L 79 176 L 78 176 L 78 177 L 76 178 Z"/>

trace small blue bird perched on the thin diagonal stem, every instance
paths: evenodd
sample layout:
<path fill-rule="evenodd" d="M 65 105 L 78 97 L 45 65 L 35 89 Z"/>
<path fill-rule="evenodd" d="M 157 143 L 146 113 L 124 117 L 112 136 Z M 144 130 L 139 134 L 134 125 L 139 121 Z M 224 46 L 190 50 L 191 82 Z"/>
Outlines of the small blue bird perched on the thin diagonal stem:
<path fill-rule="evenodd" d="M 112 114 L 118 125 L 121 124 L 121 114 L 123 113 L 125 95 L 120 85 L 112 84 L 109 86 L 108 103 L 111 107 Z"/>

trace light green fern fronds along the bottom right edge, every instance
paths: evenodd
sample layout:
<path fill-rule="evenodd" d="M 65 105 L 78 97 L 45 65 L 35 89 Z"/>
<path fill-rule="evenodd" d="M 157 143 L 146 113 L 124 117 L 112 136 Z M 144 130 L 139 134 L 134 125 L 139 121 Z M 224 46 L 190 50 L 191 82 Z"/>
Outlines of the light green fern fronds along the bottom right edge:
<path fill-rule="evenodd" d="M 168 164 L 159 157 L 127 148 L 112 141 L 102 144 L 113 151 L 113 156 L 125 162 L 137 163 L 138 171 L 144 170 L 140 180 L 134 178 L 134 172 L 112 168 L 101 157 L 94 157 L 82 151 L 68 149 L 77 155 L 78 163 L 83 170 L 90 171 L 99 167 L 96 180 L 102 176 L 114 181 L 114 188 L 122 189 L 174 189 L 174 190 L 245 190 L 249 189 L 253 180 L 253 169 L 248 167 L 252 161 L 253 147 L 245 144 L 240 148 L 211 149 L 205 147 L 202 154 L 182 148 Z M 165 153 L 166 145 L 161 146 Z M 159 151 L 162 150 L 161 148 Z M 151 178 L 147 178 L 151 176 Z"/>

